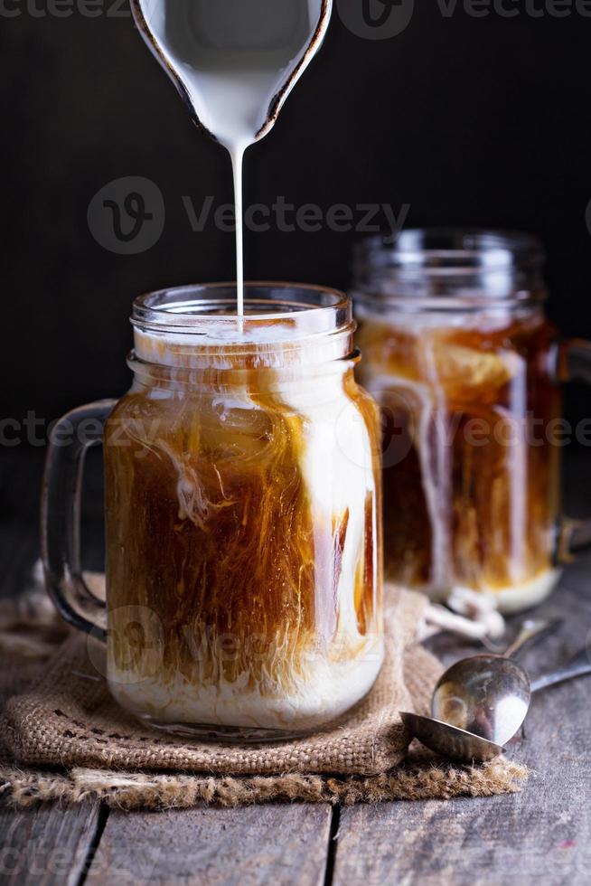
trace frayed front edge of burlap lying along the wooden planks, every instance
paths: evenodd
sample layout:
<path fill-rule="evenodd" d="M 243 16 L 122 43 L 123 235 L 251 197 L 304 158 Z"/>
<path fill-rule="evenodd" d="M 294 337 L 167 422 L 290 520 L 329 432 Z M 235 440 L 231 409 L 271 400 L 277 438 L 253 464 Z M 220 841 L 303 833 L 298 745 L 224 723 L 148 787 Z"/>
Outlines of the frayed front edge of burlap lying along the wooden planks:
<path fill-rule="evenodd" d="M 158 776 L 74 768 L 68 774 L 0 768 L 0 796 L 11 806 L 39 802 L 81 803 L 101 800 L 125 810 L 253 806 L 272 802 L 330 803 L 352 806 L 392 800 L 449 800 L 459 796 L 497 796 L 521 790 L 528 769 L 500 758 L 482 766 L 430 764 L 404 767 L 370 778 L 284 776 Z"/>

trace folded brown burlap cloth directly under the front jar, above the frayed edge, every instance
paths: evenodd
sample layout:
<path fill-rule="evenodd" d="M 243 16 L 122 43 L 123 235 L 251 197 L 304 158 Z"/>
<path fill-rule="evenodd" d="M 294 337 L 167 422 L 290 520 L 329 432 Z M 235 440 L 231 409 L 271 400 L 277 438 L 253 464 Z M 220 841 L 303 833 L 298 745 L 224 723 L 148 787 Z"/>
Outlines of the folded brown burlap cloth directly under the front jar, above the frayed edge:
<path fill-rule="evenodd" d="M 399 766 L 409 734 L 400 710 L 427 709 L 441 674 L 417 645 L 427 599 L 393 590 L 385 606 L 384 665 L 371 692 L 339 724 L 302 739 L 233 744 L 163 735 L 117 706 L 102 676 L 104 647 L 71 636 L 39 682 L 13 695 L 0 716 L 0 741 L 27 768 L 98 768 L 195 776 L 328 774 L 370 777 Z"/>

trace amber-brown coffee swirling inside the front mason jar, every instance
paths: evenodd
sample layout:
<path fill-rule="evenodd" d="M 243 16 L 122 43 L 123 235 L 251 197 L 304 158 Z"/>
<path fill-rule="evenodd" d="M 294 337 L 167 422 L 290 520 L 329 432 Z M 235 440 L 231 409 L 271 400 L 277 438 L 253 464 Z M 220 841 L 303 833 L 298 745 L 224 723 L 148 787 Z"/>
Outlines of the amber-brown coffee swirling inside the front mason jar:
<path fill-rule="evenodd" d="M 209 387 L 195 383 L 194 372 L 190 385 L 179 384 L 177 369 L 160 373 L 136 384 L 106 432 L 115 665 L 139 678 L 157 674 L 165 682 L 180 674 L 199 685 L 222 680 L 244 683 L 245 692 L 289 693 L 302 653 L 347 660 L 359 651 L 340 636 L 338 588 L 352 514 L 326 519 L 319 511 L 302 470 L 306 416 L 280 391 L 261 390 L 261 372 L 242 373 L 241 386 L 229 382 L 230 372 L 218 373 Z M 371 400 L 352 370 L 340 383 L 377 453 Z M 361 517 L 359 648 L 380 630 L 379 504 L 369 494 Z M 139 622 L 133 630 L 130 611 Z"/>

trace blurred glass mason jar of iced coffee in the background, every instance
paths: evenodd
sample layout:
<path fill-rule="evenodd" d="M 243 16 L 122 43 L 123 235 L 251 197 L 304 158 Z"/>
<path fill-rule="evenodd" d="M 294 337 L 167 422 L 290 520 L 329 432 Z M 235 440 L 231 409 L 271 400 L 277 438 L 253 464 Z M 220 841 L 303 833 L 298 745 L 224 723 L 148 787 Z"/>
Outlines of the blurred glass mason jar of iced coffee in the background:
<path fill-rule="evenodd" d="M 527 608 L 588 526 L 559 520 L 559 382 L 591 375 L 584 342 L 544 316 L 544 254 L 527 235 L 405 231 L 361 243 L 360 381 L 380 402 L 390 580 Z"/>

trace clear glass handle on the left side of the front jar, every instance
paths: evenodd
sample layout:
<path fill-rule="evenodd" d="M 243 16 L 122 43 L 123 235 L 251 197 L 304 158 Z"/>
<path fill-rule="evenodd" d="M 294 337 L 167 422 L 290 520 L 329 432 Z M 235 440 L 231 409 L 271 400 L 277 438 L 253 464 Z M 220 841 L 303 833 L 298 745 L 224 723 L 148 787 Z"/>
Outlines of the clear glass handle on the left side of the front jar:
<path fill-rule="evenodd" d="M 61 616 L 100 639 L 107 636 L 107 610 L 89 589 L 80 562 L 80 501 L 84 457 L 102 442 L 115 406 L 104 400 L 80 406 L 52 429 L 42 490 L 42 559 L 47 589 Z"/>

